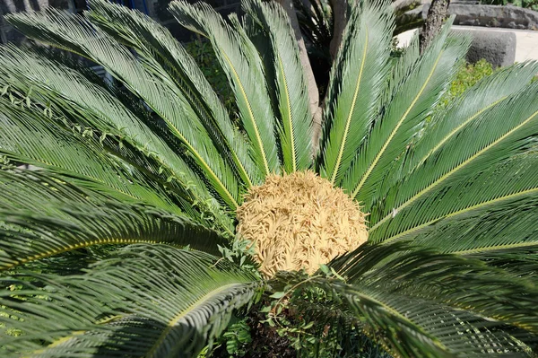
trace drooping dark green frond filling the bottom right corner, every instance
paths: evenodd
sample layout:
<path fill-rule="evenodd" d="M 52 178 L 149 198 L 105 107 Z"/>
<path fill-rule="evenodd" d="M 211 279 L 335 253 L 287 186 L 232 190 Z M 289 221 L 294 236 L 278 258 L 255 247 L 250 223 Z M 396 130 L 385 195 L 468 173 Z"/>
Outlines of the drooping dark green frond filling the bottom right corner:
<path fill-rule="evenodd" d="M 536 287 L 479 260 L 400 241 L 363 245 L 331 266 L 345 281 L 319 284 L 397 356 L 526 357 L 536 342 Z"/>

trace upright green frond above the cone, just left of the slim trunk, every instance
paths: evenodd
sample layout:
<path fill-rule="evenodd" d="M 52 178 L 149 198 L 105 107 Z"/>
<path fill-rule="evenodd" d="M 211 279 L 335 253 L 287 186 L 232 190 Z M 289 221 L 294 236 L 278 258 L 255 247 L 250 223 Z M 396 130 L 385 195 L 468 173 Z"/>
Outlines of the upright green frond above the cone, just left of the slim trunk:
<path fill-rule="evenodd" d="M 311 166 L 311 123 L 308 91 L 299 49 L 288 15 L 275 3 L 247 1 L 245 12 L 267 31 L 271 40 L 275 90 L 280 111 L 279 138 L 286 172 Z"/>

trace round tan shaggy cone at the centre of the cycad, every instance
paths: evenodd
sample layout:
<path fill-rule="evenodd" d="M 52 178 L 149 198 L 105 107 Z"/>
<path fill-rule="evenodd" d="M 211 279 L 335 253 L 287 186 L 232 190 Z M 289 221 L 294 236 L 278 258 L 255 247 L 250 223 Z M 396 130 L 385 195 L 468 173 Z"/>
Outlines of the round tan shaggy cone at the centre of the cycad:
<path fill-rule="evenodd" d="M 261 272 L 319 265 L 368 240 L 365 214 L 342 189 L 311 171 L 270 175 L 238 209 L 239 236 L 251 240 Z"/>

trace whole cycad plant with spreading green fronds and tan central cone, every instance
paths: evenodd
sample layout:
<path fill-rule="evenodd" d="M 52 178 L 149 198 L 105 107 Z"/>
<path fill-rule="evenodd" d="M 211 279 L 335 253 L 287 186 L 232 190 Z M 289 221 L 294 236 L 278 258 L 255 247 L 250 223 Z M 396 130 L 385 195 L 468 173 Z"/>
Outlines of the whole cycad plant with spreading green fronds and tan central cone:
<path fill-rule="evenodd" d="M 0 355 L 196 356 L 259 309 L 317 349 L 362 332 L 401 357 L 532 356 L 538 65 L 433 110 L 469 40 L 447 24 L 391 58 L 389 9 L 354 7 L 319 145 L 278 4 L 227 20 L 170 4 L 211 42 L 231 114 L 142 13 L 8 16 L 114 83 L 49 48 L 1 48 Z"/>

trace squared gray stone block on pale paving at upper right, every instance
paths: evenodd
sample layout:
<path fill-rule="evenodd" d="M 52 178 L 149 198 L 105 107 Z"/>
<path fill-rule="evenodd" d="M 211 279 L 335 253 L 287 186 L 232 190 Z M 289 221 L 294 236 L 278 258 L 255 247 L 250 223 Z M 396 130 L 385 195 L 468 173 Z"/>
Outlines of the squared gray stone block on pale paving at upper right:
<path fill-rule="evenodd" d="M 512 65 L 516 59 L 516 34 L 500 31 L 453 30 L 473 36 L 471 48 L 467 53 L 467 61 L 476 63 L 482 58 L 491 65 Z"/>

